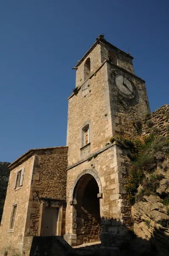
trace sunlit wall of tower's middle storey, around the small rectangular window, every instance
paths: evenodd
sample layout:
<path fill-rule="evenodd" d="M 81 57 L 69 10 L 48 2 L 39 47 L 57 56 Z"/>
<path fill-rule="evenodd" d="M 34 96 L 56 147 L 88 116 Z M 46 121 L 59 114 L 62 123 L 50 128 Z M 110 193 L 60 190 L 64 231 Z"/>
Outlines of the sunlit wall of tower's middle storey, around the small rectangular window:
<path fill-rule="evenodd" d="M 82 64 L 81 64 L 82 65 Z M 82 148 L 82 128 L 89 123 L 90 145 Z M 68 101 L 68 166 L 104 147 L 112 136 L 106 64 L 90 79 L 90 92 L 82 88 Z M 83 152 L 82 154 L 82 151 Z"/>

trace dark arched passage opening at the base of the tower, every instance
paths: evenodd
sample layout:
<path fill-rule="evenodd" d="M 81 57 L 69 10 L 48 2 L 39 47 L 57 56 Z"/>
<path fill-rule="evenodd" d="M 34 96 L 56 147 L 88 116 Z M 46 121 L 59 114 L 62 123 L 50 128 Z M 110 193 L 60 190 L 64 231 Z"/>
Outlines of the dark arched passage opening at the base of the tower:
<path fill-rule="evenodd" d="M 96 175 L 94 175 L 96 177 Z M 99 197 L 101 188 L 93 175 L 85 172 L 79 177 L 73 189 L 73 205 L 76 216 L 73 227 L 76 228 L 76 244 L 99 241 L 101 218 Z M 100 180 L 99 180 L 100 181 Z M 101 183 L 100 183 L 101 184 Z M 99 184 L 99 185 L 100 185 Z M 98 197 L 99 196 L 99 197 Z"/>

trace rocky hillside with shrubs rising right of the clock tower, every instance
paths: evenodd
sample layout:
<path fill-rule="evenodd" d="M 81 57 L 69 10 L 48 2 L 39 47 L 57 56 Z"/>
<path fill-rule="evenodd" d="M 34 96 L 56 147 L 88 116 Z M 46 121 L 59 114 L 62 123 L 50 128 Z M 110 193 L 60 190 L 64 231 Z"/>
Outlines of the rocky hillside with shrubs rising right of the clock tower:
<path fill-rule="evenodd" d="M 147 113 L 140 125 L 144 147 L 134 162 L 136 169 L 133 168 L 140 169 L 142 176 L 139 172 L 137 191 L 128 189 L 130 198 L 134 198 L 133 230 L 153 244 L 157 255 L 169 255 L 169 105 Z M 151 142 L 146 139 L 150 137 Z M 131 177 L 134 180 L 130 171 Z"/>

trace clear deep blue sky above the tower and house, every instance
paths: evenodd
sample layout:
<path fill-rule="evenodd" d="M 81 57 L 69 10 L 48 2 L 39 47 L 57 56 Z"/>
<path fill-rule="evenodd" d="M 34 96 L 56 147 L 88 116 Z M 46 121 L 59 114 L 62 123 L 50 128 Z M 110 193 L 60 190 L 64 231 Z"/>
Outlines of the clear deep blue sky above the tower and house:
<path fill-rule="evenodd" d="M 66 144 L 75 70 L 99 34 L 134 57 L 151 111 L 169 103 L 168 0 L 0 1 L 0 161 Z"/>

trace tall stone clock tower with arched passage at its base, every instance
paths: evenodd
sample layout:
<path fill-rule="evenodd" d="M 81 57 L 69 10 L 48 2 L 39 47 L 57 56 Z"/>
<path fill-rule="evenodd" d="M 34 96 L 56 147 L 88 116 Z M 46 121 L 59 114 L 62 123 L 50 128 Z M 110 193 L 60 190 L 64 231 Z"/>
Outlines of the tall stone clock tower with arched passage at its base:
<path fill-rule="evenodd" d="M 115 134 L 135 136 L 133 121 L 150 111 L 145 81 L 135 76 L 132 59 L 99 35 L 73 68 L 65 234 L 71 245 L 100 238 L 111 245 L 127 231 L 126 157 L 119 145 L 107 142 Z"/>

